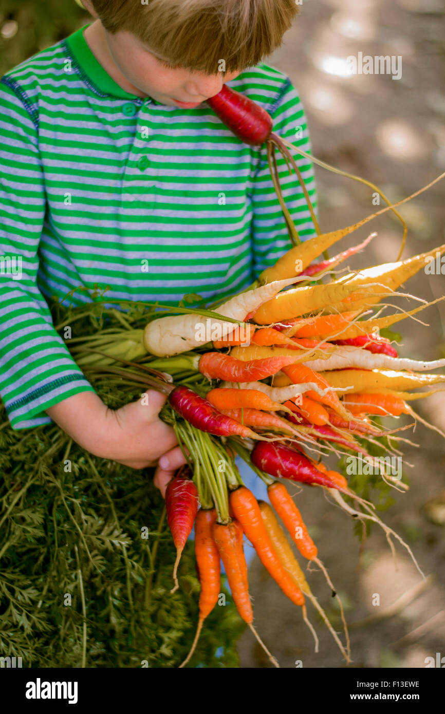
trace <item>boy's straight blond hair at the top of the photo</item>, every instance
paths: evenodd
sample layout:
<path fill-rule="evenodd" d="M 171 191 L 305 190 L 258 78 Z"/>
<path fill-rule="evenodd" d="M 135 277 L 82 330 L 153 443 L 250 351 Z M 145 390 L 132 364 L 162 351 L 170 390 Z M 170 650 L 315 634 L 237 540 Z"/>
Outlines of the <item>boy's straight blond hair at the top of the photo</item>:
<path fill-rule="evenodd" d="M 295 0 L 91 2 L 107 31 L 131 31 L 169 64 L 205 74 L 258 64 L 298 13 Z"/>

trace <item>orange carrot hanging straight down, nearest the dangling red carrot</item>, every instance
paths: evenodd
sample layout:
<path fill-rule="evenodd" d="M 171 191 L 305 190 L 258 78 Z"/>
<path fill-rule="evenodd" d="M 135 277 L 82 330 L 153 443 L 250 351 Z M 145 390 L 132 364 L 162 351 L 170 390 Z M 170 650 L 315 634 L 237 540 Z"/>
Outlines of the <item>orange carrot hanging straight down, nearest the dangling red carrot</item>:
<path fill-rule="evenodd" d="M 210 508 L 206 511 L 200 508 L 196 514 L 195 555 L 199 582 L 201 583 L 201 593 L 199 593 L 199 620 L 190 652 L 184 662 L 179 665 L 179 669 L 185 667 L 191 660 L 196 645 L 198 644 L 204 620 L 211 613 L 211 610 L 214 609 L 219 598 L 219 591 L 221 589 L 221 566 L 219 563 L 218 548 L 211 535 L 211 529 L 215 521 L 216 510 L 214 508 Z"/>

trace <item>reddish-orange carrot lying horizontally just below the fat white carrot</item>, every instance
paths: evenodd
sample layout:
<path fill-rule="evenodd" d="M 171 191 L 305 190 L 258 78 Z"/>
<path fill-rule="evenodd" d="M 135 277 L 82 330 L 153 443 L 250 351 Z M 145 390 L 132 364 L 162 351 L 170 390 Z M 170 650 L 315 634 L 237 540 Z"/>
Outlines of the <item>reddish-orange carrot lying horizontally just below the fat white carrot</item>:
<path fill-rule="evenodd" d="M 199 360 L 199 371 L 208 379 L 224 379 L 228 382 L 254 382 L 271 377 L 294 357 L 278 356 L 242 361 L 221 352 L 206 352 Z"/>

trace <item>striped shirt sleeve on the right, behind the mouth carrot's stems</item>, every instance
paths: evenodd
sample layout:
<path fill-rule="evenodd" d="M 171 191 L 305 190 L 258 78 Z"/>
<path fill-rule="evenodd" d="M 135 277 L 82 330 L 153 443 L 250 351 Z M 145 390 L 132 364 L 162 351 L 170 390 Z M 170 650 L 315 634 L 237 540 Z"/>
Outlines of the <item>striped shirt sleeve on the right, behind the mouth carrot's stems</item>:
<path fill-rule="evenodd" d="M 299 96 L 289 79 L 286 78 L 278 98 L 269 109 L 269 113 L 274 120 L 273 131 L 276 134 L 283 136 L 291 144 L 299 146 L 306 153 L 310 153 L 311 144 L 306 116 Z M 318 218 L 313 165 L 301 154 L 293 152 L 293 156 L 301 171 Z M 315 229 L 299 179 L 294 173 L 289 175 L 286 163 L 278 152 L 277 164 L 286 207 L 294 220 L 299 237 L 301 240 L 310 238 L 314 236 Z M 283 253 L 291 248 L 284 216 L 271 181 L 265 146 L 261 148 L 259 166 L 252 183 L 251 198 L 254 211 L 252 221 L 253 267 L 254 277 L 256 278 L 264 268 L 273 265 Z"/>

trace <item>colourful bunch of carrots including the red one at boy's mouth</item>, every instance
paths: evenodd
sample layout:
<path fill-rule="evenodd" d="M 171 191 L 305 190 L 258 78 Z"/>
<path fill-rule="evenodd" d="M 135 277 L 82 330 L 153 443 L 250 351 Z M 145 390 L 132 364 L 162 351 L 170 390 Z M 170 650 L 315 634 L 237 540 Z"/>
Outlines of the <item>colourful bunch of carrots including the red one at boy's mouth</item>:
<path fill-rule="evenodd" d="M 343 610 L 344 643 L 311 593 L 271 506 L 299 553 L 318 565 L 334 594 L 316 545 L 283 480 L 327 489 L 349 515 L 379 523 L 391 548 L 391 538 L 396 538 L 416 563 L 409 546 L 380 521 L 372 504 L 351 491 L 341 473 L 326 468 L 321 456 L 328 450 L 338 456 L 351 452 L 371 458 L 364 444 L 375 443 L 382 436 L 389 444 L 389 453 L 400 453 L 394 446 L 400 437 L 394 435 L 412 424 L 384 428 L 374 417 L 409 415 L 435 428 L 417 415 L 409 402 L 431 394 L 411 390 L 445 383 L 445 374 L 434 373 L 445 367 L 445 360 L 399 357 L 396 346 L 380 336 L 380 331 L 406 318 L 417 319 L 417 313 L 437 302 L 423 302 L 405 311 L 386 303 L 386 299 L 413 297 L 399 288 L 428 261 L 444 253 L 445 245 L 403 261 L 341 271 L 344 274 L 339 276 L 334 268 L 363 250 L 376 233 L 332 258 L 326 251 L 381 213 L 396 213 L 396 206 L 445 174 L 394 205 L 379 191 L 388 203 L 386 208 L 330 233 L 319 231 L 305 191 L 317 235 L 301 243 L 286 211 L 274 156 L 278 148 L 289 168 L 299 174 L 289 152 L 299 149 L 272 133 L 266 112 L 227 87 L 209 103 L 242 141 L 266 143 L 293 247 L 274 266 L 266 268 L 251 288 L 212 310 L 181 308 L 183 314 L 154 318 L 143 331 L 124 330 L 124 341 L 110 341 L 104 334 L 86 348 L 78 341 L 72 351 L 87 374 L 101 371 L 116 384 L 144 385 L 168 395 L 162 416 L 174 426 L 188 462 L 166 491 L 167 521 L 177 549 L 173 591 L 179 587 L 181 552 L 193 527 L 201 583 L 196 637 L 181 666 L 189 662 L 204 620 L 218 600 L 221 561 L 241 618 L 278 666 L 254 630 L 244 535 L 281 590 L 301 608 L 315 639 L 306 598 L 350 661 Z M 405 233 L 406 226 L 404 237 Z M 384 314 L 388 306 L 396 311 Z M 201 331 L 201 326 L 206 330 Z M 266 483 L 271 505 L 256 501 L 244 486 L 236 456 L 249 463 Z M 381 477 L 399 490 L 407 488 L 384 467 Z"/>

